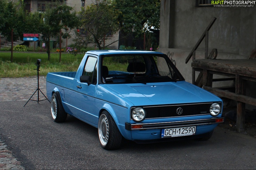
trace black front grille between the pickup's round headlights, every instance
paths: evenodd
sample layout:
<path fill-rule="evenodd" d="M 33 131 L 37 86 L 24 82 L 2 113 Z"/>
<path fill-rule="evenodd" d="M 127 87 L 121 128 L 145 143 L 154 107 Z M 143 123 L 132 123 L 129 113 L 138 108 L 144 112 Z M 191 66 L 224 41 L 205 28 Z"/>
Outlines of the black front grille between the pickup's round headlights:
<path fill-rule="evenodd" d="M 175 105 L 159 105 L 159 106 L 143 106 L 146 111 L 145 119 L 184 117 L 210 114 L 211 103 L 193 103 L 193 104 L 175 104 Z M 131 112 L 135 107 L 131 108 Z M 178 108 L 183 109 L 182 114 L 177 114 Z"/>

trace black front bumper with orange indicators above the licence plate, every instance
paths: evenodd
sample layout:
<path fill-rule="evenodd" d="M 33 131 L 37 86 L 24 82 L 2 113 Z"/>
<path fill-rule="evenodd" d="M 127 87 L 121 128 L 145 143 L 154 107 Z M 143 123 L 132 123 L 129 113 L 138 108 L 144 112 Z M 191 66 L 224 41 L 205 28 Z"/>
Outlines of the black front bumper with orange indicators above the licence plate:
<path fill-rule="evenodd" d="M 224 122 L 224 117 L 199 119 L 199 120 L 174 121 L 174 122 L 146 123 L 146 124 L 143 124 L 143 123 L 130 124 L 126 122 L 125 129 L 126 130 L 168 129 L 168 128 L 184 127 L 184 126 L 211 125 L 211 124 L 218 124 L 223 122 Z"/>

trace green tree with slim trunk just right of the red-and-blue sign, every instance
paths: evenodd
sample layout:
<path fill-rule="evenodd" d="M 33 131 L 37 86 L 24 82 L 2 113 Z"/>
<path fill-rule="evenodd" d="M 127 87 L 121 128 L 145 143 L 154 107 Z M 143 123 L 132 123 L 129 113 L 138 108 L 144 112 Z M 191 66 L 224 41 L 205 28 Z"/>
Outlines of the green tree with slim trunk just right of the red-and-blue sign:
<path fill-rule="evenodd" d="M 42 34 L 42 39 L 46 43 L 46 52 L 48 60 L 50 60 L 50 40 L 59 35 L 61 29 L 76 28 L 79 24 L 79 19 L 76 12 L 72 12 L 73 8 L 65 4 L 60 4 L 59 1 L 52 2 L 46 6 L 45 13 L 37 14 L 40 16 L 38 24 L 39 32 Z"/>

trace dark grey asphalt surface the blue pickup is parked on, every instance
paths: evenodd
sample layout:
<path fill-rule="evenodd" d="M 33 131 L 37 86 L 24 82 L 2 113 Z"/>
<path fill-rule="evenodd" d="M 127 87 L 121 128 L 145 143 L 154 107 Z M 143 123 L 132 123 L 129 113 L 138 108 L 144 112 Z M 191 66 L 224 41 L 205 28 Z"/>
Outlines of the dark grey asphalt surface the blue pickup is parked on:
<path fill-rule="evenodd" d="M 0 102 L 1 140 L 25 169 L 256 169 L 256 139 L 217 127 L 208 141 L 136 144 L 106 151 L 97 129 L 68 116 L 51 118 L 50 103 Z"/>

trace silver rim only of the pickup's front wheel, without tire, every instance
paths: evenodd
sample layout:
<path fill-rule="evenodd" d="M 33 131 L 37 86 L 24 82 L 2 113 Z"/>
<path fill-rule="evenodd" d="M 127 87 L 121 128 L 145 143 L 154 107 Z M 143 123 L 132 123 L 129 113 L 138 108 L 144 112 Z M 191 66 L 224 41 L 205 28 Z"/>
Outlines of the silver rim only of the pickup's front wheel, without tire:
<path fill-rule="evenodd" d="M 106 146 L 107 141 L 109 141 L 109 121 L 105 114 L 102 114 L 101 117 L 99 117 L 98 134 L 101 145 Z"/>

